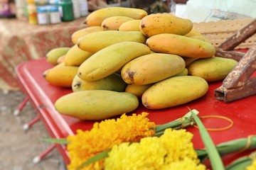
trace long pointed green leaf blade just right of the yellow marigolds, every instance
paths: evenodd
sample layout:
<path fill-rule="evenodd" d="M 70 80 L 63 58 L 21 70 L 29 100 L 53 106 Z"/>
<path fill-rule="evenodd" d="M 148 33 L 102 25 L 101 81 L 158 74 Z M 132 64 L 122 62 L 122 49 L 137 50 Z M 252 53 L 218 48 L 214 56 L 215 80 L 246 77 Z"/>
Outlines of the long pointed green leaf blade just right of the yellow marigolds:
<path fill-rule="evenodd" d="M 213 144 L 213 140 L 211 140 L 210 135 L 208 134 L 206 128 L 204 127 L 200 118 L 198 118 L 198 116 L 195 113 L 193 113 L 193 111 L 191 111 L 191 115 L 193 116 L 196 125 L 198 125 L 198 129 L 203 140 L 203 144 L 206 147 L 206 152 L 208 153 L 210 164 L 213 170 L 224 170 L 225 168 L 220 158 L 220 154 L 218 154 L 218 151 L 215 145 Z"/>

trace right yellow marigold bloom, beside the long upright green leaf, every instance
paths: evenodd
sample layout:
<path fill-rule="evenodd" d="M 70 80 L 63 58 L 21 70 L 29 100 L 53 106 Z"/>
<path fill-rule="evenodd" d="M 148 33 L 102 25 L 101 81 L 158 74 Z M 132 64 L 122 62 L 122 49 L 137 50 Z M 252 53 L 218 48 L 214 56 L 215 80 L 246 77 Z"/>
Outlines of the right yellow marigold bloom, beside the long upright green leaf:
<path fill-rule="evenodd" d="M 190 158 L 197 163 L 200 162 L 195 149 L 193 149 L 193 143 L 191 142 L 193 134 L 186 132 L 185 129 L 171 130 L 166 129 L 164 135 L 161 135 L 160 140 L 163 142 L 164 147 L 168 150 L 168 156 L 166 157 L 166 163 L 178 162 L 184 158 Z"/>

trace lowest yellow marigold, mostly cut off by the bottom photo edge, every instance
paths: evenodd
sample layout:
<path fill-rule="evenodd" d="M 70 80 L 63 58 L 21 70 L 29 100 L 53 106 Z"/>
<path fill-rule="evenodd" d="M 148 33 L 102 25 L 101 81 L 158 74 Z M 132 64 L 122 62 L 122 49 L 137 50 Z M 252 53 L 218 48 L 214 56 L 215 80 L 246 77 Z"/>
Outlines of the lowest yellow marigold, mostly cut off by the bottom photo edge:
<path fill-rule="evenodd" d="M 176 170 L 176 169 L 182 169 L 182 170 L 206 170 L 206 166 L 203 164 L 196 164 L 192 159 L 185 158 L 182 161 L 178 162 L 171 162 L 171 164 L 167 164 L 164 166 L 161 170 Z"/>

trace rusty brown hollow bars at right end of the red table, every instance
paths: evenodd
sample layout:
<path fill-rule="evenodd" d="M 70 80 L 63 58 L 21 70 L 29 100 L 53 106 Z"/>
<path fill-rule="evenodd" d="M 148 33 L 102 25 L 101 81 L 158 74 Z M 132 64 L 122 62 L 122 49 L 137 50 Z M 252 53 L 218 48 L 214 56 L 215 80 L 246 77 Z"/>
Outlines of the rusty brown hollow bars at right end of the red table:
<path fill-rule="evenodd" d="M 225 40 L 216 54 L 220 57 L 233 58 L 238 65 L 223 80 L 223 84 L 215 89 L 215 98 L 226 103 L 256 94 L 256 77 L 250 78 L 256 70 L 256 43 L 242 55 L 234 50 L 241 42 L 256 33 L 256 19 Z M 229 51 L 228 51 L 229 50 Z"/>

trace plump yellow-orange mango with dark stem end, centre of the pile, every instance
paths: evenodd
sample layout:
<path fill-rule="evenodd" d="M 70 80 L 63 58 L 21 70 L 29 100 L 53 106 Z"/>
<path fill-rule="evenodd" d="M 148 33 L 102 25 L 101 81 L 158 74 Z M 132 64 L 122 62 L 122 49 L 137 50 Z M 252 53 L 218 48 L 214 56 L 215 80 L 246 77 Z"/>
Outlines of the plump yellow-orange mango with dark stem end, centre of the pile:
<path fill-rule="evenodd" d="M 127 84 L 145 85 L 173 77 L 183 69 L 185 62 L 178 55 L 151 53 L 125 64 L 121 76 Z"/>

